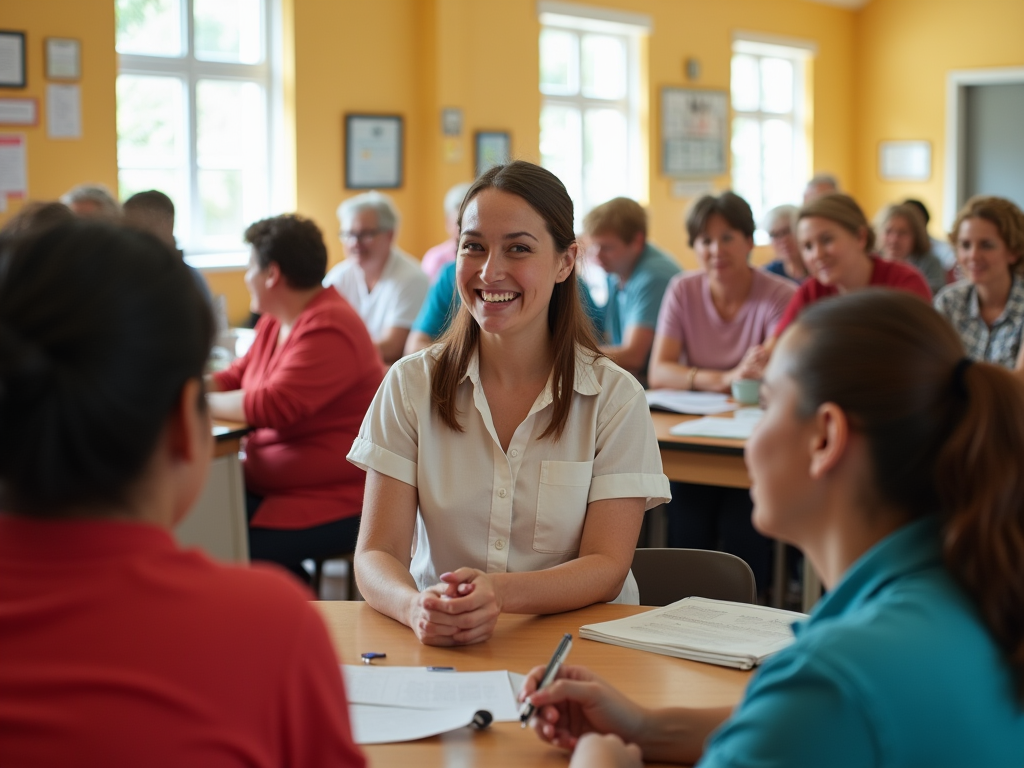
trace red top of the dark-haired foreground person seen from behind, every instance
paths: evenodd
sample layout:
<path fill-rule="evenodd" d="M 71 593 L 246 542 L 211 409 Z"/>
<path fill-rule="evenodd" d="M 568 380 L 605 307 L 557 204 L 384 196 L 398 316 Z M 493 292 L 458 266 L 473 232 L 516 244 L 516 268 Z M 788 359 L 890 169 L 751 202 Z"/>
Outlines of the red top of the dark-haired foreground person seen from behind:
<path fill-rule="evenodd" d="M 311 597 L 156 525 L 0 514 L 0 760 L 362 768 Z"/>

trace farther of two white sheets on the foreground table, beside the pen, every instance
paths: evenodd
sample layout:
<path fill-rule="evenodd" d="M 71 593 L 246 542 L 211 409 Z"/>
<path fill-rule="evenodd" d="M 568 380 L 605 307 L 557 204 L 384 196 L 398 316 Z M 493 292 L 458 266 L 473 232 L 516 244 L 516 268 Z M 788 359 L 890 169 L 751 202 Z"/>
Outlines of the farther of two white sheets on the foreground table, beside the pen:
<path fill-rule="evenodd" d="M 418 710 L 486 710 L 495 722 L 519 720 L 509 673 L 430 672 L 423 667 L 343 665 L 348 700 Z"/>

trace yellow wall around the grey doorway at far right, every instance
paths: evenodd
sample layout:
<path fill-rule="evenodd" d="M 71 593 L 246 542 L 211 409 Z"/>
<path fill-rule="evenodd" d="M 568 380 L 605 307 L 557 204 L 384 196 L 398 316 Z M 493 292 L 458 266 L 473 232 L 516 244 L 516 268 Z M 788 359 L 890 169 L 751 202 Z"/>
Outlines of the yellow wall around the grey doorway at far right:
<path fill-rule="evenodd" d="M 912 197 L 941 237 L 946 76 L 951 70 L 1024 66 L 1024 0 L 872 0 L 858 14 L 857 142 L 853 188 L 868 216 Z M 1024 135 L 1024 127 L 1021 128 Z M 932 142 L 932 178 L 879 178 L 879 142 Z"/>

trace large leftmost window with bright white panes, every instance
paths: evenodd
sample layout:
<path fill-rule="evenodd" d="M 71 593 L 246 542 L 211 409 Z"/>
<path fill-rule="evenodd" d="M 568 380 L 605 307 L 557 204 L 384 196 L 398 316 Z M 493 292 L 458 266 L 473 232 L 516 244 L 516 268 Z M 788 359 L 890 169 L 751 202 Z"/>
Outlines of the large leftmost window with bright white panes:
<path fill-rule="evenodd" d="M 166 193 L 191 263 L 245 263 L 271 209 L 273 0 L 116 2 L 121 199 Z"/>

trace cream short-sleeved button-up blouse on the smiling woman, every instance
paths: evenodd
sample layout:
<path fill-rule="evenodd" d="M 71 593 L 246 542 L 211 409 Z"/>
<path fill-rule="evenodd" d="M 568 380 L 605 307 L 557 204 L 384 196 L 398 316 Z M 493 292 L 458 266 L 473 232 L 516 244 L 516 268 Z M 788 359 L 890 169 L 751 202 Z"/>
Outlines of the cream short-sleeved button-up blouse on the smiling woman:
<path fill-rule="evenodd" d="M 561 438 L 538 439 L 553 410 L 549 380 L 505 453 L 476 355 L 457 393 L 465 431 L 433 412 L 436 354 L 427 348 L 391 367 L 348 454 L 356 466 L 417 488 L 410 570 L 420 590 L 465 566 L 522 572 L 574 559 L 590 502 L 643 498 L 650 509 L 669 501 L 643 389 L 611 360 L 581 352 Z M 614 602 L 638 600 L 630 573 Z"/>

